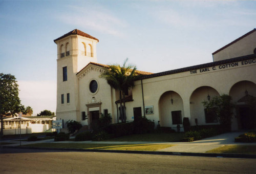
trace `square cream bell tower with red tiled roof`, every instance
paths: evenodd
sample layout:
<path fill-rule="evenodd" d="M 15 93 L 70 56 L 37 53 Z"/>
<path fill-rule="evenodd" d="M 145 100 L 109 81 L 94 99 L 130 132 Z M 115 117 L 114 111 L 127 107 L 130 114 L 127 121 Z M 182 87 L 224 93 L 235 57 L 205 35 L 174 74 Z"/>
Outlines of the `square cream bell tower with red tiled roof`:
<path fill-rule="evenodd" d="M 57 119 L 80 121 L 76 74 L 90 62 L 97 62 L 98 39 L 80 30 L 54 40 L 57 44 Z M 67 130 L 66 125 L 64 126 Z"/>

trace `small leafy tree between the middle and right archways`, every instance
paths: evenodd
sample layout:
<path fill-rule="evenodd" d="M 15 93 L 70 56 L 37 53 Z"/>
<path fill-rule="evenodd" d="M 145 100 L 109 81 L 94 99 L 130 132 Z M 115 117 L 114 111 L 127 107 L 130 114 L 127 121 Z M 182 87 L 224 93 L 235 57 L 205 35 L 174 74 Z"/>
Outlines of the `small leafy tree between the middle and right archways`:
<path fill-rule="evenodd" d="M 215 112 L 218 122 L 224 132 L 231 130 L 232 109 L 234 105 L 231 103 L 232 98 L 223 94 L 215 96 L 210 101 L 204 101 L 204 107 L 208 112 Z"/>

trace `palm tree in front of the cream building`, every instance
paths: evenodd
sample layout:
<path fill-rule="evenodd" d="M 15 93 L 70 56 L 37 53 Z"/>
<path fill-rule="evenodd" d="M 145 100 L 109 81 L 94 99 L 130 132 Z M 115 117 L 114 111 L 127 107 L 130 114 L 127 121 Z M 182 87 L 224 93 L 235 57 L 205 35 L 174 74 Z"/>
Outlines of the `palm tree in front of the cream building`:
<path fill-rule="evenodd" d="M 120 98 L 120 116 L 122 122 L 126 122 L 125 114 L 125 91 L 133 88 L 134 80 L 136 78 L 136 66 L 130 64 L 126 66 L 126 59 L 121 67 L 119 64 L 112 64 L 108 68 L 105 68 L 100 78 L 106 79 L 108 84 L 115 90 L 119 90 Z M 123 103 L 123 105 L 122 105 Z"/>

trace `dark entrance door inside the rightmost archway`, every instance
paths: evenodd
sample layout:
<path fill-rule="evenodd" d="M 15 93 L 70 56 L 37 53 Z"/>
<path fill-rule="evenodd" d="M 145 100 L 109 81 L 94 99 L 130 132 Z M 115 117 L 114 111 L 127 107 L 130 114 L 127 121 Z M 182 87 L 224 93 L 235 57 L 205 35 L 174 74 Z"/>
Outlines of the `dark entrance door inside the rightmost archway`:
<path fill-rule="evenodd" d="M 250 107 L 240 107 L 239 114 L 242 129 L 251 129 L 254 127 L 254 117 Z"/>

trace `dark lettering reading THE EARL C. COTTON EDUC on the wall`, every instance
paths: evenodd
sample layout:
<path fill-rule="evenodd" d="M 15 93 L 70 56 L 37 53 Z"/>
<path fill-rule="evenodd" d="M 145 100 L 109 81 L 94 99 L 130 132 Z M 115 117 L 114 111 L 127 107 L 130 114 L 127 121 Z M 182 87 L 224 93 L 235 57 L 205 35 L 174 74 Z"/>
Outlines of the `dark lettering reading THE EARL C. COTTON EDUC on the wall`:
<path fill-rule="evenodd" d="M 233 68 L 233 67 L 245 66 L 247 64 L 252 64 L 252 63 L 256 63 L 256 59 L 243 60 L 241 62 L 232 62 L 232 63 L 220 64 L 220 65 L 214 66 L 214 67 L 207 67 L 207 68 L 202 68 L 202 69 L 198 69 L 198 70 L 192 70 L 192 71 L 190 71 L 190 74 L 199 74 L 199 73 L 203 73 L 203 72 L 229 69 L 229 68 Z"/>

